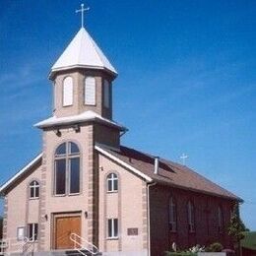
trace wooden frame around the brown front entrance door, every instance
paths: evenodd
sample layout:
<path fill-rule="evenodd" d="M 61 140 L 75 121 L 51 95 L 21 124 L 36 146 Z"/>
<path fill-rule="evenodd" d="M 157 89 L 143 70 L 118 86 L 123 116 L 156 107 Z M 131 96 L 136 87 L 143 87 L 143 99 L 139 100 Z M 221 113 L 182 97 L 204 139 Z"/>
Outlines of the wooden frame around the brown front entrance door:
<path fill-rule="evenodd" d="M 82 211 L 80 212 L 67 212 L 67 213 L 53 213 L 52 214 L 52 222 L 51 222 L 51 242 L 50 242 L 50 247 L 51 250 L 62 250 L 62 249 L 57 249 L 56 248 L 56 228 L 57 228 L 57 219 L 58 218 L 72 218 L 72 217 L 80 217 L 80 224 L 81 224 L 81 234 L 82 234 Z"/>

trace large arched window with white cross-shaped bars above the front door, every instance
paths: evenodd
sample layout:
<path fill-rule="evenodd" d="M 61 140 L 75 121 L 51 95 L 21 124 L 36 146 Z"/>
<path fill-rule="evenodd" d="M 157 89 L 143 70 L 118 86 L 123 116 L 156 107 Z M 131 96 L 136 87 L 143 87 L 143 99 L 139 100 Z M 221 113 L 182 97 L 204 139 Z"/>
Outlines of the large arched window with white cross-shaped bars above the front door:
<path fill-rule="evenodd" d="M 55 194 L 80 192 L 80 151 L 73 142 L 61 144 L 55 152 Z"/>

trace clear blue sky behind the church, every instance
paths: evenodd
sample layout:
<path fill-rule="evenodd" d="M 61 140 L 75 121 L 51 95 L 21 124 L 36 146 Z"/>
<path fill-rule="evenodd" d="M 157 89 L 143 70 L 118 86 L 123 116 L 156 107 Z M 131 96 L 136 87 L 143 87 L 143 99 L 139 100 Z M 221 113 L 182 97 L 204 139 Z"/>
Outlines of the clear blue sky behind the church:
<path fill-rule="evenodd" d="M 41 150 L 51 65 L 81 1 L 0 0 L 0 183 Z M 245 203 L 256 229 L 256 1 L 87 1 L 87 30 L 119 72 L 123 144 L 179 161 Z"/>

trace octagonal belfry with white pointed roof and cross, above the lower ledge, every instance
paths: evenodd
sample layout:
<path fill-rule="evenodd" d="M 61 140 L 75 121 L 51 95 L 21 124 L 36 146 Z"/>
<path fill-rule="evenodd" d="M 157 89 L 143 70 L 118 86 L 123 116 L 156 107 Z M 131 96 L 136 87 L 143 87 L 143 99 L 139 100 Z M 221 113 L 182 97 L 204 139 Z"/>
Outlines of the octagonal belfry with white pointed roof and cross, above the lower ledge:
<path fill-rule="evenodd" d="M 91 110 L 112 118 L 112 82 L 117 72 L 83 25 L 52 66 L 53 115 L 66 117 Z"/>

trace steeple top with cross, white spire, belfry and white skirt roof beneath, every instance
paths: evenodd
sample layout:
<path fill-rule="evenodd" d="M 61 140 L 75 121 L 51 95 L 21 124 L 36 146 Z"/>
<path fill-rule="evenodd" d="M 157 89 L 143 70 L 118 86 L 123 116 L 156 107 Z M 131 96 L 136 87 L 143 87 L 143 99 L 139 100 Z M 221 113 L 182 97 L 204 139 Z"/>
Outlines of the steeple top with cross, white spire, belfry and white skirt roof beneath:
<path fill-rule="evenodd" d="M 50 70 L 52 116 L 35 126 L 61 137 L 68 127 L 79 132 L 82 126 L 94 124 L 96 143 L 119 147 L 120 133 L 126 128 L 112 120 L 112 83 L 117 72 L 84 28 L 87 10 L 83 4 L 77 10 L 82 27 Z"/>

